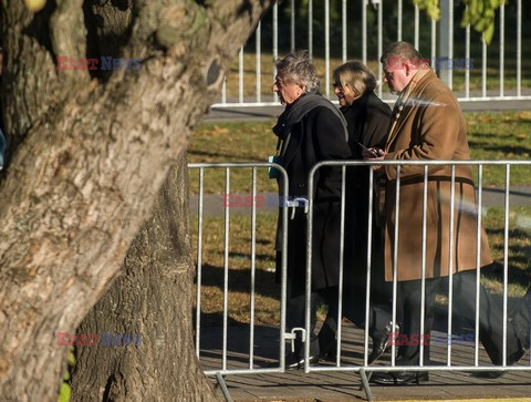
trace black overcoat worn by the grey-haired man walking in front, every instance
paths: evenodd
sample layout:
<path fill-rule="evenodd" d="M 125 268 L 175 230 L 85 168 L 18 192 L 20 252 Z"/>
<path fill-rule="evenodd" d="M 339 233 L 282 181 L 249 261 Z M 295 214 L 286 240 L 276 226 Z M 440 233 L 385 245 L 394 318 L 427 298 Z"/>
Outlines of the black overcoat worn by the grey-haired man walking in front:
<path fill-rule="evenodd" d="M 308 197 L 308 175 L 316 163 L 347 159 L 350 156 L 351 151 L 340 116 L 325 106 L 312 109 L 293 125 L 290 140 L 282 145 L 281 165 L 288 173 L 289 196 Z M 320 168 L 314 183 L 313 290 L 339 284 L 341 167 Z M 279 185 L 283 188 L 282 183 Z M 304 208 L 295 208 L 295 216 L 289 219 L 288 224 L 288 282 L 292 295 L 300 295 L 305 288 L 306 224 Z M 277 238 L 280 240 L 280 236 Z M 280 250 L 280 241 L 277 241 L 277 249 Z M 278 279 L 280 258 L 279 252 Z"/>

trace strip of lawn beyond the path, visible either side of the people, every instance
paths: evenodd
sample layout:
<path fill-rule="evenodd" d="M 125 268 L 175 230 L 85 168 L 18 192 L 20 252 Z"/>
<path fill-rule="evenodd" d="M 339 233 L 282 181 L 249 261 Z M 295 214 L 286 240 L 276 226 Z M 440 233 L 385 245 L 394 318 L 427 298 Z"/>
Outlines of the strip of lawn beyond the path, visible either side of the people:
<path fill-rule="evenodd" d="M 529 159 L 531 112 L 467 113 L 473 159 Z M 275 151 L 274 122 L 201 124 L 191 140 L 188 162 L 267 162 Z M 250 193 L 251 169 L 231 171 L 231 193 Z M 197 169 L 190 172 L 190 190 L 198 193 Z M 483 186 L 502 186 L 504 167 L 483 169 Z M 531 184 L 529 167 L 514 167 L 511 185 Z M 275 193 L 277 182 L 258 171 L 258 192 Z M 225 169 L 205 172 L 205 193 L 225 193 Z"/>

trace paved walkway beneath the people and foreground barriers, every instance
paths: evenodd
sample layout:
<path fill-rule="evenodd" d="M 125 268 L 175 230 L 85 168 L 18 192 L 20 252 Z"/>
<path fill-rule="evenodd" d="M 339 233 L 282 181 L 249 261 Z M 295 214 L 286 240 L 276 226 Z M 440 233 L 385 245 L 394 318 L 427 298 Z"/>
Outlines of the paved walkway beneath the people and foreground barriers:
<path fill-rule="evenodd" d="M 343 327 L 342 367 L 358 367 L 363 359 L 363 331 L 352 323 Z M 442 330 L 442 329 L 441 329 Z M 254 368 L 264 368 L 278 361 L 279 330 L 272 327 L 257 327 L 254 333 Z M 216 370 L 222 365 L 221 328 L 204 330 L 201 337 L 201 363 L 205 370 Z M 227 368 L 249 368 L 249 327 L 236 326 L 228 329 Z M 490 361 L 480 347 L 480 364 Z M 446 347 L 431 347 L 431 359 L 437 365 L 445 365 Z M 473 364 L 473 348 L 452 347 L 454 364 Z M 388 365 L 389 355 L 384 355 L 378 365 Z M 433 371 L 429 382 L 420 385 L 383 386 L 371 385 L 374 401 L 397 400 L 462 400 L 470 398 L 507 398 L 516 401 L 531 396 L 531 365 L 529 353 L 519 365 L 530 370 L 509 372 L 502 378 L 480 379 L 458 371 Z M 333 368 L 334 363 L 320 363 L 320 369 Z M 212 378 L 212 382 L 216 380 Z M 320 371 L 303 373 L 303 370 L 285 373 L 227 375 L 228 391 L 233 401 L 356 401 L 366 398 L 361 390 L 361 378 L 355 372 Z M 223 399 L 218 389 L 220 399 Z"/>

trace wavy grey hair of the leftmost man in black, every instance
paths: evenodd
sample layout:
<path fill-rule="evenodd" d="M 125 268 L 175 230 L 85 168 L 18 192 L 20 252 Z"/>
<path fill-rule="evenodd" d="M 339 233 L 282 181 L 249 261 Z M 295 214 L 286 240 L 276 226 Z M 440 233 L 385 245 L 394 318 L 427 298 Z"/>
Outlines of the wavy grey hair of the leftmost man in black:
<path fill-rule="evenodd" d="M 319 90 L 317 70 L 306 50 L 290 53 L 274 61 L 277 74 L 292 84 L 305 85 L 306 92 Z"/>

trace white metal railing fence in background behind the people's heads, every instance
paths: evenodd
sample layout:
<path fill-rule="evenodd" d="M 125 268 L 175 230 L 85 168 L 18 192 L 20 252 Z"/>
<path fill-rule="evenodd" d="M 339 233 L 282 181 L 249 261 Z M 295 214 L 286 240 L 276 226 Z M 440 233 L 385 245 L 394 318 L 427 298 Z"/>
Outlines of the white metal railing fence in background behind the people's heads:
<path fill-rule="evenodd" d="M 524 28 L 529 25 L 522 13 L 522 0 L 500 7 L 493 42 L 489 47 L 470 25 L 460 28 L 460 11 L 455 12 L 458 4 L 454 0 L 441 1 L 441 17 L 435 22 L 409 0 L 275 2 L 249 42 L 240 49 L 238 66 L 226 78 L 221 100 L 212 106 L 277 105 L 271 90 L 274 81 L 272 59 L 279 56 L 279 51 L 287 53 L 295 49 L 308 49 L 324 60 L 324 66 L 320 63 L 317 70 L 324 68 L 321 89 L 329 99 L 335 101 L 331 69 L 347 59 L 368 63 L 377 75 L 377 93 L 382 97 L 383 71 L 378 60 L 384 35 L 385 42 L 406 40 L 420 49 L 431 60 L 433 68 L 439 66 L 441 79 L 457 90 L 461 102 L 530 100 L 529 71 L 522 70 L 522 65 L 525 66 L 524 61 L 531 56 L 531 48 L 525 44 L 531 39 L 522 29 L 522 21 Z M 389 27 L 395 24 L 395 10 L 396 32 L 393 32 Z M 314 17 L 317 14 L 322 14 L 322 19 Z M 373 40 L 374 31 L 377 31 L 376 41 Z M 289 43 L 284 43 L 288 38 Z M 387 93 L 384 95 L 387 101 L 393 99 Z"/>

